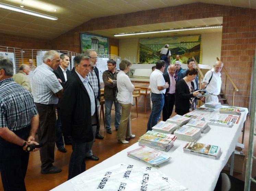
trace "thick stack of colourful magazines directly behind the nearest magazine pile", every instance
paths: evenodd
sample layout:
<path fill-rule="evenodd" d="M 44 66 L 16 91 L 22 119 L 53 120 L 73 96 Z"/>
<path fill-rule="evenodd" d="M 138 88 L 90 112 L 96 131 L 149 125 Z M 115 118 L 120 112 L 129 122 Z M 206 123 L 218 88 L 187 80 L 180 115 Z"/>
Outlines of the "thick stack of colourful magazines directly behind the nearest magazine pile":
<path fill-rule="evenodd" d="M 139 137 L 140 146 L 148 146 L 155 149 L 164 151 L 170 150 L 173 147 L 173 143 L 176 140 L 175 135 L 160 133 L 155 131 L 147 131 L 144 135 Z"/>

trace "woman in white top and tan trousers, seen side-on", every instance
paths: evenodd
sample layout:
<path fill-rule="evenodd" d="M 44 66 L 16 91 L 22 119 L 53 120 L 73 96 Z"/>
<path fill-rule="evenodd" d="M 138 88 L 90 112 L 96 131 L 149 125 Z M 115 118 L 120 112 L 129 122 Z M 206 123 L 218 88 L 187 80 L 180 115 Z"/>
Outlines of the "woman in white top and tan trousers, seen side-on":
<path fill-rule="evenodd" d="M 135 135 L 131 133 L 131 107 L 133 103 L 132 92 L 134 85 L 126 73 L 130 70 L 131 62 L 129 60 L 122 60 L 119 64 L 120 72 L 117 74 L 117 101 L 120 103 L 121 119 L 117 131 L 117 139 L 119 143 L 127 144 L 125 138 L 134 138 Z"/>

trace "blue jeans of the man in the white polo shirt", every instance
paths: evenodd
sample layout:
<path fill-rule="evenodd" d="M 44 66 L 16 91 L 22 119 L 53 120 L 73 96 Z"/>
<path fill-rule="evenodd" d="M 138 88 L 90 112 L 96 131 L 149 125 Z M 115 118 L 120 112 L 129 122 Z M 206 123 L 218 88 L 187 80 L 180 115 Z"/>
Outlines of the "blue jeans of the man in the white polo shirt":
<path fill-rule="evenodd" d="M 152 127 L 157 124 L 164 104 L 164 94 L 151 93 L 152 110 L 148 119 L 147 131 L 151 131 Z"/>

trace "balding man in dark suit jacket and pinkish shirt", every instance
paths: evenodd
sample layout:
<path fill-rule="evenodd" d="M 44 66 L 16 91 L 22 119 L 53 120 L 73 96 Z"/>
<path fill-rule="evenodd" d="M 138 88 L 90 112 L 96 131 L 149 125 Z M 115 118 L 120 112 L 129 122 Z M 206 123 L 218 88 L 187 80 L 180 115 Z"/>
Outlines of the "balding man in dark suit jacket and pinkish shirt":
<path fill-rule="evenodd" d="M 165 82 L 169 84 L 169 88 L 166 89 L 164 94 L 164 105 L 163 105 L 163 121 L 166 121 L 172 115 L 172 110 L 175 102 L 175 86 L 176 80 L 174 74 L 176 66 L 171 64 L 168 67 L 168 72 L 163 74 Z"/>

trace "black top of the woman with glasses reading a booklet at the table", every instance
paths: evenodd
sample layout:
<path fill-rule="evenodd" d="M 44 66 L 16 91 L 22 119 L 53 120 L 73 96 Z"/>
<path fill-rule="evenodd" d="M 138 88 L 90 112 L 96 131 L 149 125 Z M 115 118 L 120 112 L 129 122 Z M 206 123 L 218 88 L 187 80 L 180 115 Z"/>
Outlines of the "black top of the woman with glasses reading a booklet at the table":
<path fill-rule="evenodd" d="M 191 82 L 191 85 L 194 87 L 193 82 Z M 175 90 L 175 108 L 189 111 L 190 98 L 193 97 L 193 93 L 190 93 L 185 80 L 179 80 Z"/>

